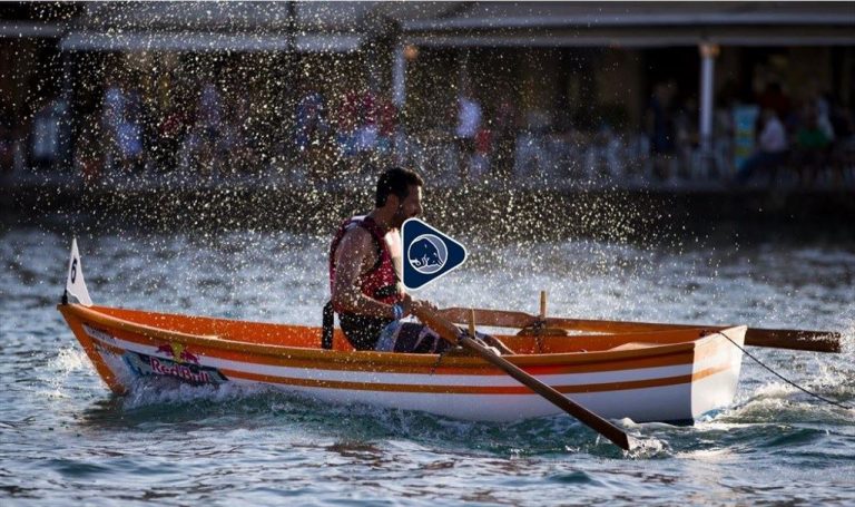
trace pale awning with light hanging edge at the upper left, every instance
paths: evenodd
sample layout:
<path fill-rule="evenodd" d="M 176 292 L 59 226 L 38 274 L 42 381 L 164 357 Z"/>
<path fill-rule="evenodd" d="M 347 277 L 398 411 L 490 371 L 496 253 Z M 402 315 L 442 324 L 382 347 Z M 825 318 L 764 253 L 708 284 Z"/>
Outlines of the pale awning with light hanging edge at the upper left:
<path fill-rule="evenodd" d="M 91 2 L 60 41 L 73 51 L 352 52 L 372 2 Z M 293 38 L 289 35 L 293 33 Z"/>

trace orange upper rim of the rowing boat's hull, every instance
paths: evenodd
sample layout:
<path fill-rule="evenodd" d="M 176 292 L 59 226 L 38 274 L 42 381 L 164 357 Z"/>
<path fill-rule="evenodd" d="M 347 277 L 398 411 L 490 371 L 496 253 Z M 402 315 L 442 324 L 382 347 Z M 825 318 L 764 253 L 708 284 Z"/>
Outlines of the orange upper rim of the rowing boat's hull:
<path fill-rule="evenodd" d="M 100 308 L 109 309 L 111 306 L 100 306 Z M 438 354 L 414 354 L 414 353 L 402 353 L 402 352 L 391 353 L 391 352 L 376 352 L 376 351 L 338 351 L 338 350 L 325 350 L 320 348 L 315 349 L 315 348 L 304 348 L 304 347 L 277 345 L 277 344 L 268 344 L 268 343 L 253 343 L 253 342 L 246 342 L 246 341 L 239 341 L 239 340 L 227 340 L 213 334 L 191 334 L 191 333 L 185 333 L 180 331 L 173 331 L 173 330 L 156 328 L 153 325 L 141 324 L 138 322 L 132 322 L 126 319 L 108 315 L 96 309 L 88 308 L 77 303 L 59 304 L 57 309 L 63 315 L 66 315 L 66 318 L 68 318 L 70 314 L 73 318 L 80 320 L 81 323 L 86 323 L 87 321 L 90 321 L 101 325 L 106 325 L 108 328 L 115 328 L 126 332 L 136 333 L 141 337 L 148 338 L 149 340 L 179 341 L 179 342 L 196 344 L 200 347 L 209 347 L 214 349 L 255 353 L 259 355 L 273 355 L 273 357 L 286 355 L 288 359 L 295 359 L 295 360 L 313 359 L 313 360 L 318 360 L 323 362 L 344 362 L 344 363 L 380 362 L 380 363 L 396 363 L 396 364 L 403 363 L 403 364 L 412 364 L 416 367 L 435 365 L 438 360 Z M 128 309 L 117 309 L 117 310 L 128 310 Z M 130 311 L 139 311 L 139 310 L 130 310 Z M 167 316 L 183 316 L 183 318 L 188 316 L 188 315 L 173 314 L 173 313 L 147 312 L 147 311 L 142 311 L 142 312 L 161 314 Z M 203 319 L 212 319 L 212 320 L 216 319 L 216 320 L 225 320 L 229 322 L 243 322 L 243 321 L 235 321 L 229 319 L 217 319 L 217 318 L 208 318 L 208 316 L 203 316 Z M 246 321 L 246 322 L 255 323 L 252 321 Z M 276 324 L 276 323 L 264 323 L 264 324 L 286 325 L 286 324 Z M 304 328 L 313 329 L 312 326 L 304 326 Z M 617 361 L 623 361 L 623 360 L 637 360 L 642 358 L 646 359 L 646 358 L 659 357 L 659 355 L 680 354 L 680 353 L 692 352 L 696 347 L 699 347 L 709 341 L 719 340 L 720 338 L 717 338 L 718 332 L 724 333 L 729 330 L 738 330 L 739 328 L 745 328 L 745 326 L 734 326 L 734 328 L 728 328 L 724 330 L 716 330 L 717 332 L 712 332 L 706 337 L 698 337 L 696 339 L 687 340 L 684 342 L 668 343 L 668 344 L 653 344 L 650 347 L 632 349 L 632 350 L 605 350 L 605 351 L 597 351 L 597 352 L 560 352 L 560 353 L 547 353 L 547 354 L 543 354 L 543 353 L 517 354 L 517 355 L 508 355 L 505 357 L 505 359 L 508 359 L 509 361 L 518 365 L 535 367 L 535 365 L 554 365 L 554 364 L 569 365 L 569 364 L 583 364 L 583 363 L 597 363 L 597 362 L 608 363 L 608 362 L 617 362 Z M 686 333 L 687 331 L 691 331 L 691 330 L 692 329 L 664 330 L 664 331 L 657 331 L 656 333 L 678 334 L 678 333 Z M 704 330 L 706 329 L 697 328 L 698 332 Z M 636 333 L 616 333 L 615 335 L 621 335 L 621 334 L 636 334 Z M 578 335 L 578 337 L 583 337 L 583 335 Z M 590 337 L 597 337 L 597 334 L 591 334 Z M 443 361 L 443 365 L 445 367 L 492 368 L 483 359 L 478 357 L 472 357 L 472 355 L 444 355 L 442 361 Z M 323 369 L 321 364 L 318 364 L 318 369 Z"/>

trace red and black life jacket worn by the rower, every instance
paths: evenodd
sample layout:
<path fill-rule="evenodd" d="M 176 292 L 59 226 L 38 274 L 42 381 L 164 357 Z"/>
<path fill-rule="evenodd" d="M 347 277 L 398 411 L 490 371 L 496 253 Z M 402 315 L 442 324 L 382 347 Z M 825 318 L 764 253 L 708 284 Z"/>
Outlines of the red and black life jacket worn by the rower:
<path fill-rule="evenodd" d="M 386 246 L 384 231 L 370 216 L 354 216 L 342 223 L 330 245 L 330 290 L 335 283 L 335 252 L 345 233 L 353 227 L 363 227 L 371 234 L 376 247 L 377 261 L 365 273 L 360 275 L 360 291 L 366 296 L 386 304 L 401 302 L 403 294 L 399 292 L 399 276 L 392 263 L 392 253 Z M 392 322 L 391 319 L 356 315 L 336 308 L 332 301 L 324 306 L 323 334 L 321 344 L 324 349 L 333 347 L 333 313 L 338 313 L 338 321 L 351 343 L 357 349 L 373 349 L 382 330 Z"/>

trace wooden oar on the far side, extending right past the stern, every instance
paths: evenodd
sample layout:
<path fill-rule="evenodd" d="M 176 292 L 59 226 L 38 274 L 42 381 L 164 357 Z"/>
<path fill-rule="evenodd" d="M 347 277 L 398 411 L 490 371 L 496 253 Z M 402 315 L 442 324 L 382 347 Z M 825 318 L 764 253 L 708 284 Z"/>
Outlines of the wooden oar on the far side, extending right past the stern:
<path fill-rule="evenodd" d="M 468 309 L 450 308 L 440 314 L 452 322 L 464 322 Z M 481 325 L 497 328 L 525 329 L 534 325 L 602 333 L 631 333 L 646 331 L 667 331 L 678 329 L 723 330 L 725 325 L 706 324 L 666 324 L 653 322 L 601 321 L 584 319 L 546 318 L 540 319 L 524 312 L 503 310 L 475 310 L 475 318 Z M 756 329 L 748 328 L 745 344 L 770 349 L 807 350 L 812 352 L 841 352 L 841 333 L 834 331 L 807 331 L 796 329 Z"/>

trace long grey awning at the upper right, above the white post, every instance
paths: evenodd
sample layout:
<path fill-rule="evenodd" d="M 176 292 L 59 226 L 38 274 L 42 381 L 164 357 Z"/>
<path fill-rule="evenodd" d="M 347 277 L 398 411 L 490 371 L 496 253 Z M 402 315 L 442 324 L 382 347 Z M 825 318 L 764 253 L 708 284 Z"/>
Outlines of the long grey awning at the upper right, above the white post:
<path fill-rule="evenodd" d="M 852 2 L 472 2 L 400 20 L 426 47 L 852 46 Z"/>

